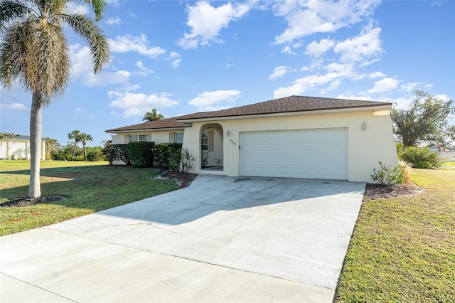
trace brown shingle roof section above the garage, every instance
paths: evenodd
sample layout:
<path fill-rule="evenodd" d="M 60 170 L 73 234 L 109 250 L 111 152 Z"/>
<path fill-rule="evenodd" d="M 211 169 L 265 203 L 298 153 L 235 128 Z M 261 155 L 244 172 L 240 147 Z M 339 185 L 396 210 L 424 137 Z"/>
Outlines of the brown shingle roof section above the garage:
<path fill-rule="evenodd" d="M 197 112 L 196 114 L 177 117 L 177 119 L 189 120 L 215 117 L 277 114 L 284 112 L 308 112 L 313 110 L 338 110 L 383 105 L 392 105 L 392 103 L 363 100 L 343 100 L 323 97 L 291 96 L 259 102 L 252 105 L 228 108 L 227 110 L 218 110 L 216 112 Z"/>

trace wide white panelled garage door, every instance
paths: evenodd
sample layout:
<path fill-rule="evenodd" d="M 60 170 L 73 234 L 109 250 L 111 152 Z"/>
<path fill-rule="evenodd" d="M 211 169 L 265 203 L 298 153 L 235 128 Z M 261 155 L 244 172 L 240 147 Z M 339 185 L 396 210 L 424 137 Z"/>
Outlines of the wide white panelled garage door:
<path fill-rule="evenodd" d="M 348 179 L 348 129 L 240 134 L 240 174 Z"/>

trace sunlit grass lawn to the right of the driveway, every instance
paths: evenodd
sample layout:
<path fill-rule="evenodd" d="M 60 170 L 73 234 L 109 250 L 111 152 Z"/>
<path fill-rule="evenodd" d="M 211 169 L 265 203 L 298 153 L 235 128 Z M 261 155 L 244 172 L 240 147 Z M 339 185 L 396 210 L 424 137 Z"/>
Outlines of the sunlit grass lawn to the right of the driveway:
<path fill-rule="evenodd" d="M 335 302 L 455 302 L 455 171 L 412 180 L 423 193 L 363 203 Z"/>

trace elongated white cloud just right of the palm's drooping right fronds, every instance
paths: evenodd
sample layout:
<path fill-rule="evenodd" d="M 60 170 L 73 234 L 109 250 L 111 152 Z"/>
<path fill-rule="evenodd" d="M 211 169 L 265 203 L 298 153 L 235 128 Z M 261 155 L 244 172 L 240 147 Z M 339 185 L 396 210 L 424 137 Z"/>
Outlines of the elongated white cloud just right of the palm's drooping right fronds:
<path fill-rule="evenodd" d="M 108 41 L 112 53 L 134 52 L 154 59 L 166 53 L 164 48 L 149 46 L 149 41 L 147 41 L 147 37 L 144 34 L 141 34 L 141 36 L 117 36 L 115 40 L 109 39 Z"/>

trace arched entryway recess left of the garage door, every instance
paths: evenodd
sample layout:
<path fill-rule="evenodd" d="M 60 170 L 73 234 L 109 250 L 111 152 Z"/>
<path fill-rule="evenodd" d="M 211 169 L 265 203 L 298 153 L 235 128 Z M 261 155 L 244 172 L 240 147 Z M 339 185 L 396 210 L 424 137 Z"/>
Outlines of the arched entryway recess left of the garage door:
<path fill-rule="evenodd" d="M 200 127 L 200 169 L 223 171 L 223 127 L 208 123 Z"/>

